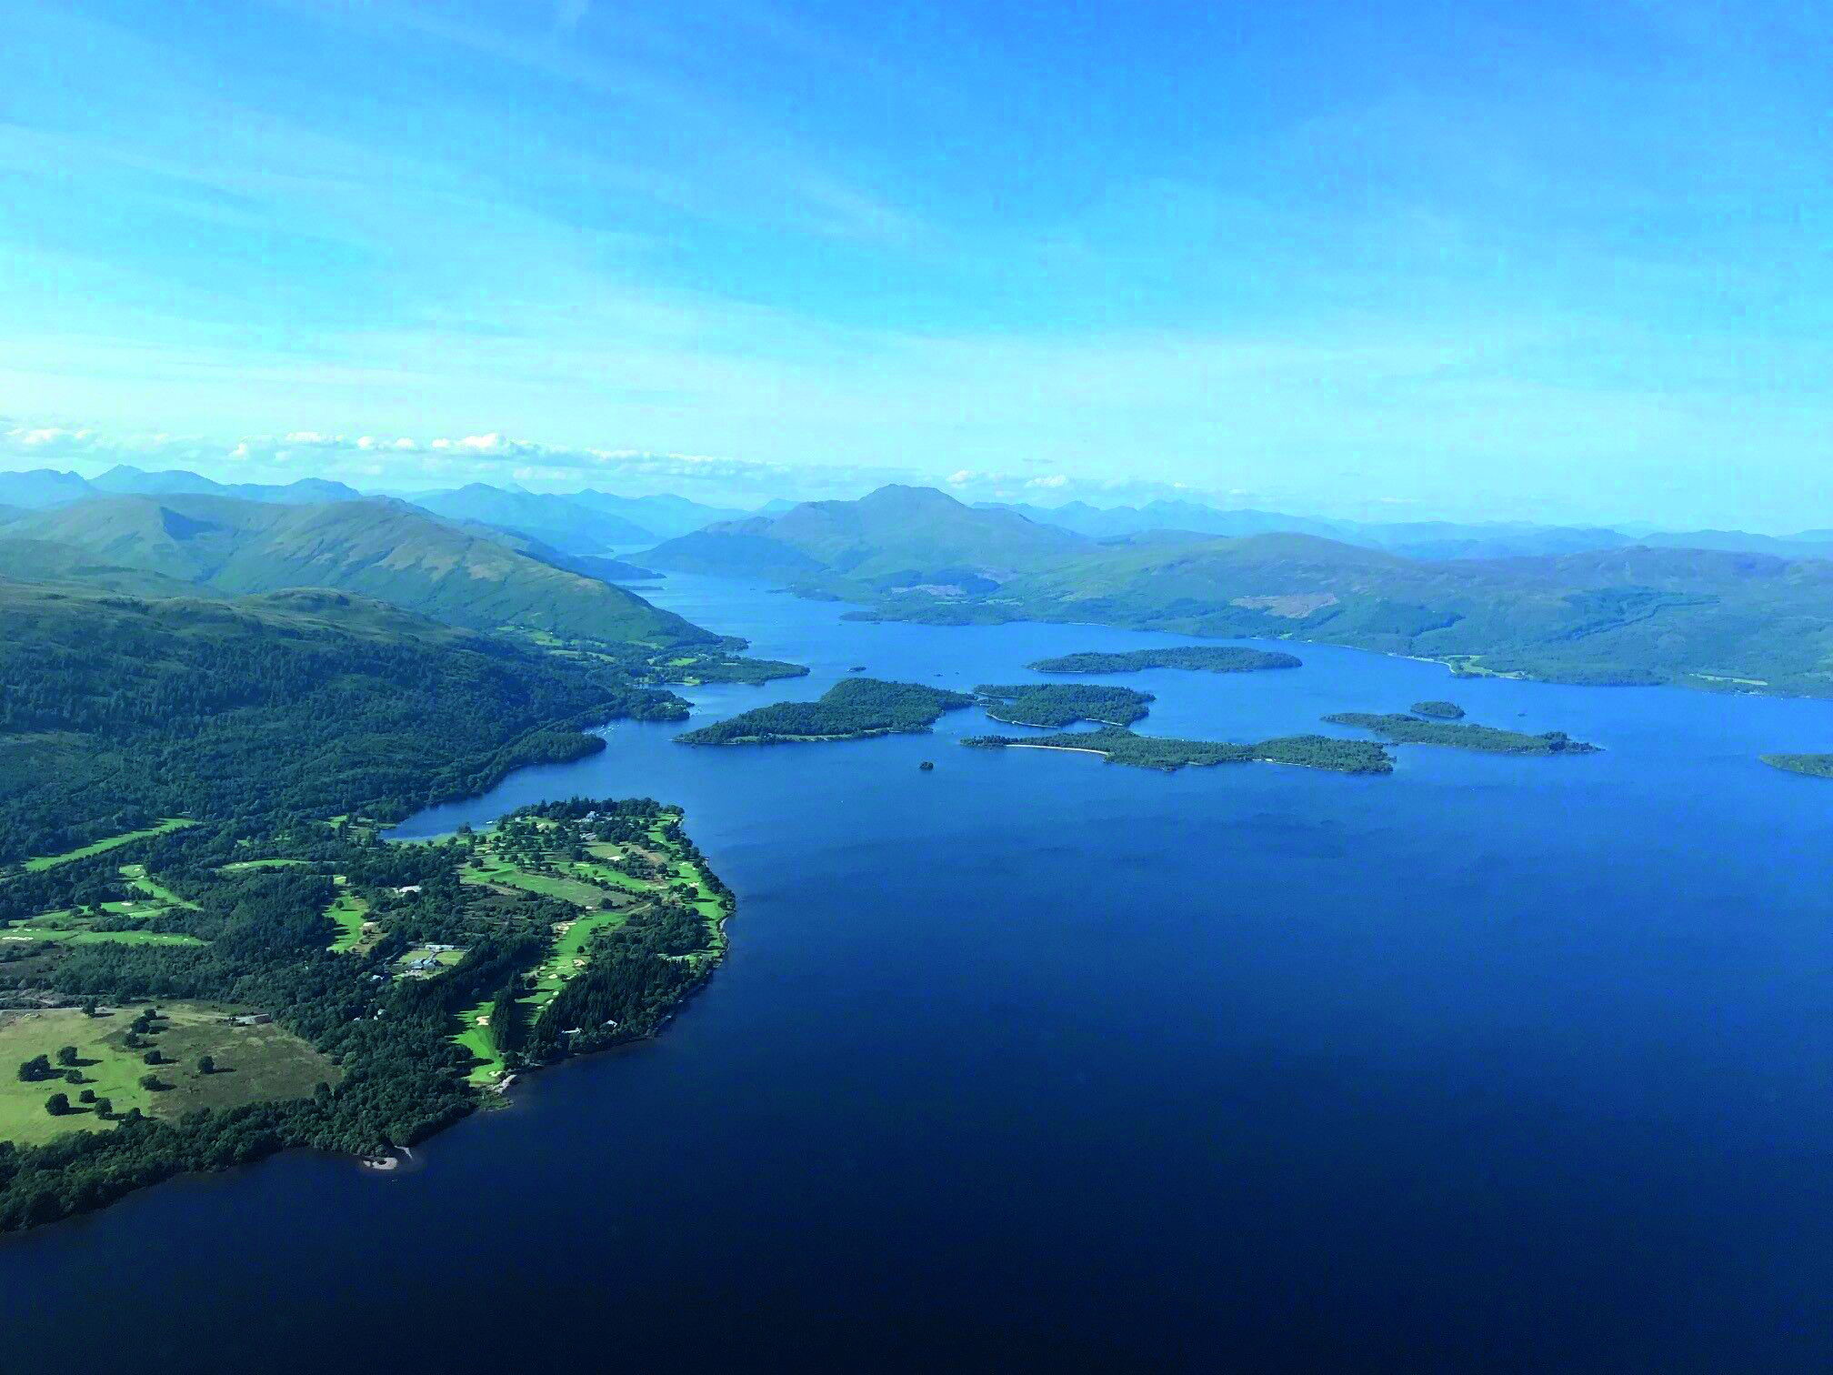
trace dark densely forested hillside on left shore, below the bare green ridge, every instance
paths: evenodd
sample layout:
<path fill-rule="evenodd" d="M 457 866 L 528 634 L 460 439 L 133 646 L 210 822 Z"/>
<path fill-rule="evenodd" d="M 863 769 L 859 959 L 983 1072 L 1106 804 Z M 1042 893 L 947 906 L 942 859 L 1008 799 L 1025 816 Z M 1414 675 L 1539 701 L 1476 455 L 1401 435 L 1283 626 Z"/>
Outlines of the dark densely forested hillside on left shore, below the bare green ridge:
<path fill-rule="evenodd" d="M 0 862 L 159 816 L 398 818 L 603 748 L 583 728 L 687 710 L 598 660 L 313 590 L 203 601 L 0 581 Z"/>

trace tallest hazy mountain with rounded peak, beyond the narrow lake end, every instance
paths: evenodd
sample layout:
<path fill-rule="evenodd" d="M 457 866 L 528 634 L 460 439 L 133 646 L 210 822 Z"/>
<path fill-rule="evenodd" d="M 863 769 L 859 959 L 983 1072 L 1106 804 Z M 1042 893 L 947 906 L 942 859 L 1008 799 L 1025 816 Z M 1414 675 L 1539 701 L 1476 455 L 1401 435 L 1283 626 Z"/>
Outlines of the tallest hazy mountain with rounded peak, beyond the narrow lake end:
<path fill-rule="evenodd" d="M 1017 512 L 962 506 L 931 488 L 889 486 L 860 500 L 814 500 L 777 517 L 717 524 L 640 557 L 686 572 L 834 576 L 869 587 L 933 583 L 984 592 L 1089 544 Z"/>

